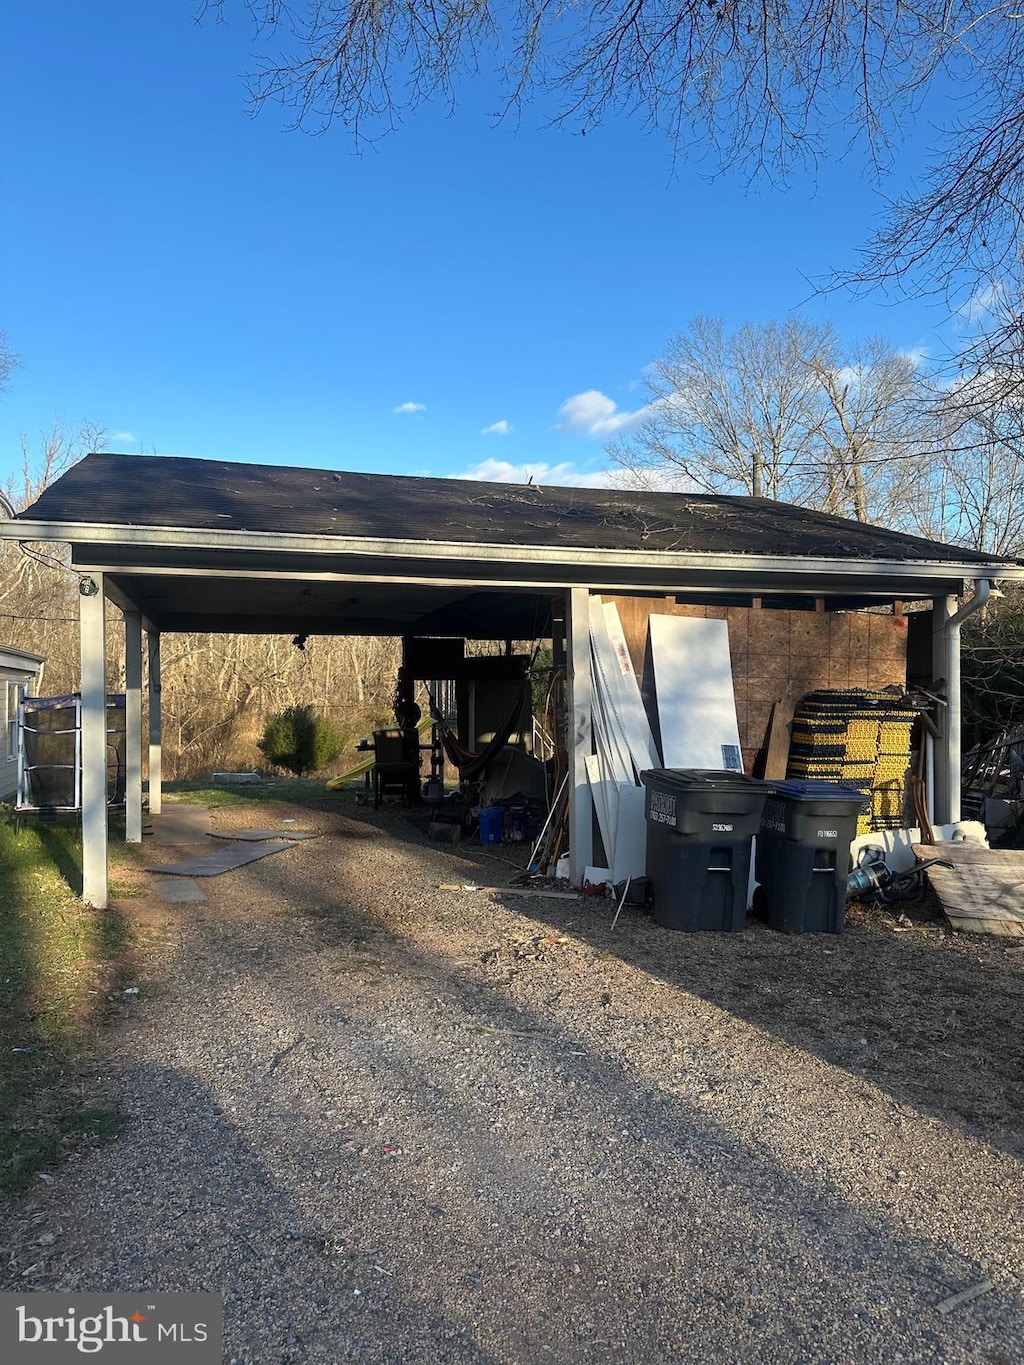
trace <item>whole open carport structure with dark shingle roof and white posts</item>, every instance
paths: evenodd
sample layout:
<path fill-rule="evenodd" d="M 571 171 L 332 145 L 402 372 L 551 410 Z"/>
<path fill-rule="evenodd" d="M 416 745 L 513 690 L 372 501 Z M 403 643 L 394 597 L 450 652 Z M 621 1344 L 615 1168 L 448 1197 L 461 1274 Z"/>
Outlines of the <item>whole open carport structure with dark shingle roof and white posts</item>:
<path fill-rule="evenodd" d="M 550 636 L 569 678 L 569 842 L 593 860 L 588 598 L 806 610 L 931 602 L 939 823 L 960 818 L 960 622 L 1016 561 L 760 498 L 563 489 L 160 456 L 89 455 L 0 538 L 66 542 L 79 576 L 83 898 L 106 905 L 106 603 L 124 616 L 130 842 L 160 812 L 168 632 Z M 964 599 L 964 605 L 961 605 Z M 145 637 L 145 650 L 143 650 Z M 145 658 L 143 658 L 145 655 Z"/>

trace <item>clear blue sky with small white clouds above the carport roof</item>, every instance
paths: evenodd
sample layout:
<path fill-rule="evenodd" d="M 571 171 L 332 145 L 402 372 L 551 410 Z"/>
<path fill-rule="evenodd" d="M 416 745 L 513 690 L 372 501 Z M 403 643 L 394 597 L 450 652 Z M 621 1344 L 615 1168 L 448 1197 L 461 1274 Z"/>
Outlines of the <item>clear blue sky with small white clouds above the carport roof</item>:
<path fill-rule="evenodd" d="M 855 157 L 750 194 L 636 123 L 496 126 L 486 78 L 355 154 L 246 113 L 257 41 L 229 12 L 4 7 L 0 483 L 55 419 L 130 452 L 599 479 L 694 314 L 949 341 L 934 300 L 814 296 L 883 207 Z"/>

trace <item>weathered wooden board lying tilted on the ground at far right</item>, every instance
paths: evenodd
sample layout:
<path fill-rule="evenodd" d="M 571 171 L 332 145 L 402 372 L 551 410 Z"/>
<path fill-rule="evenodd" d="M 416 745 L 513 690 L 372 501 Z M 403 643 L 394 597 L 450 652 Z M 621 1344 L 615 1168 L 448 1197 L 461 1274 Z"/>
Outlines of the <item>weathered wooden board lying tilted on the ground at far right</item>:
<path fill-rule="evenodd" d="M 915 844 L 919 859 L 945 857 L 956 867 L 924 874 L 946 919 L 965 934 L 1024 938 L 1024 849 L 976 844 Z"/>

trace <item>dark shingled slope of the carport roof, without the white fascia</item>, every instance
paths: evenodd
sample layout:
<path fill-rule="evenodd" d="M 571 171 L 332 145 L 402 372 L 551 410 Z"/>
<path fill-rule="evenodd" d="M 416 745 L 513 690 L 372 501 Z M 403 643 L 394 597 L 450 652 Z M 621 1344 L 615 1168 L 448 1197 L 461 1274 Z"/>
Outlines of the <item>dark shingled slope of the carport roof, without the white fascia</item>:
<path fill-rule="evenodd" d="M 86 456 L 22 516 L 467 545 L 967 564 L 998 558 L 765 498 L 537 487 L 139 455 Z"/>

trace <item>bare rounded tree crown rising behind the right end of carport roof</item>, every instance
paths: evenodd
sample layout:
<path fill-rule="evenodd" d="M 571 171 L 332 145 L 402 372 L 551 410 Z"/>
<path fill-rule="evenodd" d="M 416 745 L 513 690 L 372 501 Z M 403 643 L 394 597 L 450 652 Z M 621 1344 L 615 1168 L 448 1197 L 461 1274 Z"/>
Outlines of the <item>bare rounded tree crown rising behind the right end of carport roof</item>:
<path fill-rule="evenodd" d="M 634 482 L 747 493 L 916 528 L 930 416 L 911 356 L 789 318 L 698 317 L 649 377 L 650 416 L 610 448 Z"/>

